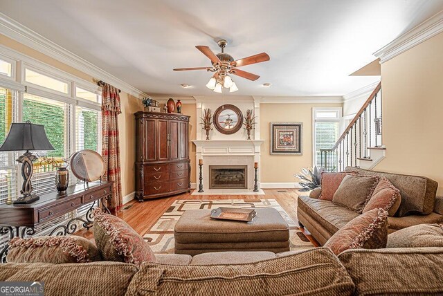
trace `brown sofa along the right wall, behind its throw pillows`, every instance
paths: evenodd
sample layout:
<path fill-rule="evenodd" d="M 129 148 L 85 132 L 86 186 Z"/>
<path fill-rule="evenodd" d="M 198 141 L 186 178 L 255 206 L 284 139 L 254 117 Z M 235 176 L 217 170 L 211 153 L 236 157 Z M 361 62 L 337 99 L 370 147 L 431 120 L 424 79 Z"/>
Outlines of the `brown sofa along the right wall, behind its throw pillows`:
<path fill-rule="evenodd" d="M 347 167 L 345 171 L 386 177 L 400 190 L 399 210 L 395 216 L 388 217 L 389 233 L 412 225 L 443 222 L 443 197 L 435 196 L 438 183 L 430 178 L 374 172 L 357 167 Z M 299 196 L 297 216 L 300 226 L 307 228 L 323 245 L 332 234 L 359 214 L 332 201 L 318 199 L 320 193 L 321 189 L 317 188 L 309 196 Z"/>

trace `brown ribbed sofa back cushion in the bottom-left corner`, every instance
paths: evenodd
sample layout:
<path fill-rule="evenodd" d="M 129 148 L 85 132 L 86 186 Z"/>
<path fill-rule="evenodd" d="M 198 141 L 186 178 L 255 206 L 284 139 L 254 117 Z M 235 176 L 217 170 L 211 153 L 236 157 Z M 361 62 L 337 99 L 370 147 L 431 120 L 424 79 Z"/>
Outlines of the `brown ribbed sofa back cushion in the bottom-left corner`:
<path fill-rule="evenodd" d="M 0 264 L 0 281 L 43 281 L 44 295 L 123 296 L 137 271 L 138 268 L 132 264 L 108 261 L 82 264 L 4 263 Z"/>

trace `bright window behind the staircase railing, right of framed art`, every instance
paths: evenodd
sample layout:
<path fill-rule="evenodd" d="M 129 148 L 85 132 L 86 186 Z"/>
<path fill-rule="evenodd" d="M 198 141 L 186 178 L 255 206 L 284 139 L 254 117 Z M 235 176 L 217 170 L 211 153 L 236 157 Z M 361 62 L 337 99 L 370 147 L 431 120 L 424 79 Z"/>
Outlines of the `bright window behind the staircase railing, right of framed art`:
<path fill-rule="evenodd" d="M 325 166 L 325 154 L 320 149 L 332 149 L 341 136 L 341 108 L 314 108 L 314 165 Z M 335 153 L 327 156 L 327 170 L 336 171 L 337 158 Z"/>

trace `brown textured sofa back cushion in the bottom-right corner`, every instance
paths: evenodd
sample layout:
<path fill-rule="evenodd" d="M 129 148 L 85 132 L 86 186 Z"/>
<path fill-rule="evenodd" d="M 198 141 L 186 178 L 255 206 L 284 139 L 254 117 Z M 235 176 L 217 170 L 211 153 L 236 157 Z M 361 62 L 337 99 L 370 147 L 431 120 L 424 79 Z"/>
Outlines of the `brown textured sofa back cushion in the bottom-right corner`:
<path fill-rule="evenodd" d="M 443 248 L 347 250 L 338 258 L 355 295 L 442 295 Z"/>

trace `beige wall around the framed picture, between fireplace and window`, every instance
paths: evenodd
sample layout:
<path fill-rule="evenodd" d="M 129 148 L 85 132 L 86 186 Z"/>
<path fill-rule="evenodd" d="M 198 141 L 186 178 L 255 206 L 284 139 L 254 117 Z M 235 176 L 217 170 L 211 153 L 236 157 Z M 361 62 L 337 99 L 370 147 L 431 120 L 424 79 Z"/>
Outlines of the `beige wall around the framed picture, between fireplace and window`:
<path fill-rule="evenodd" d="M 342 107 L 342 104 L 260 104 L 260 138 L 262 144 L 261 182 L 296 183 L 293 174 L 302 167 L 312 167 L 312 108 Z M 269 154 L 269 122 L 303 122 L 301 156 Z"/>

